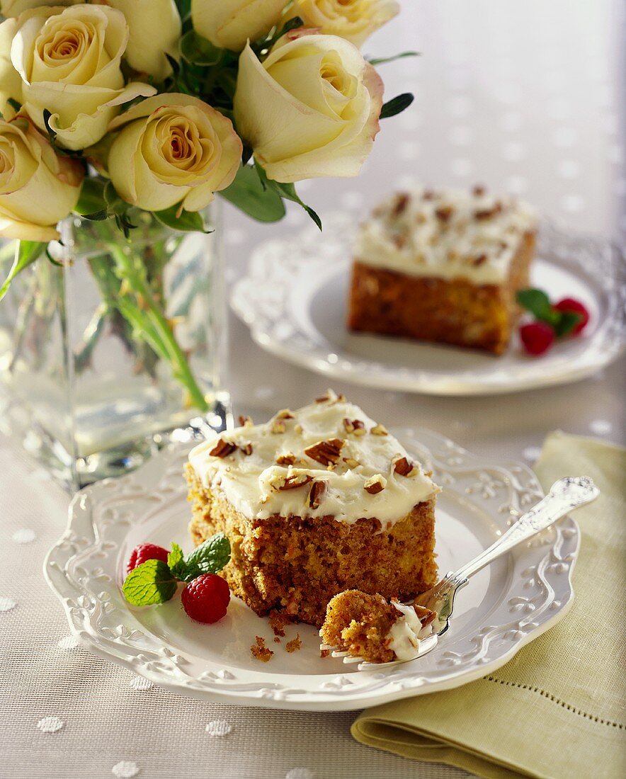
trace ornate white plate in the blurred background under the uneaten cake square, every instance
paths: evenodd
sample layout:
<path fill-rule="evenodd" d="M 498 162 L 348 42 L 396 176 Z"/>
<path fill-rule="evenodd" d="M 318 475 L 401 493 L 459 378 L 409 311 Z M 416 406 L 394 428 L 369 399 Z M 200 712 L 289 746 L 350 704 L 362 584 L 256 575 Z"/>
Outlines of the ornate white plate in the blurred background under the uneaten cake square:
<path fill-rule="evenodd" d="M 591 312 L 584 337 L 541 358 L 515 337 L 497 358 L 478 351 L 350 333 L 346 300 L 354 222 L 328 220 L 293 238 L 268 241 L 251 256 L 231 305 L 254 340 L 284 360 L 337 379 L 428 395 L 516 392 L 582 379 L 624 347 L 624 257 L 608 241 L 542 224 L 532 283 L 554 297 L 574 296 Z"/>

